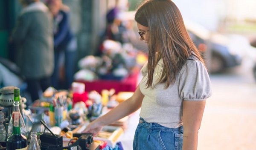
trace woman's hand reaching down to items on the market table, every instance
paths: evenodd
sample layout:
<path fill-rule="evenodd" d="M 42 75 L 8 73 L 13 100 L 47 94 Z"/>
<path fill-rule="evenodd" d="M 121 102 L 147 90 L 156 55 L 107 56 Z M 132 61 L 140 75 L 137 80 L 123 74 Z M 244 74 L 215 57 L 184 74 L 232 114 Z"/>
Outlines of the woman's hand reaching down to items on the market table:
<path fill-rule="evenodd" d="M 93 137 L 97 136 L 98 133 L 102 130 L 103 126 L 99 124 L 98 120 L 94 120 L 81 133 L 92 133 Z"/>

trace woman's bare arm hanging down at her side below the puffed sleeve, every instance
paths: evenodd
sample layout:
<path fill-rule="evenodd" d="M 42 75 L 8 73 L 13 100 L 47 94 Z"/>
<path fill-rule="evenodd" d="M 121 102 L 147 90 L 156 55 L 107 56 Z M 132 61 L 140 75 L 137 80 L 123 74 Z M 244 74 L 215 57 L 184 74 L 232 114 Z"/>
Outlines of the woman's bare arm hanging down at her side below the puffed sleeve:
<path fill-rule="evenodd" d="M 206 101 L 183 101 L 182 150 L 197 150 L 198 130 L 201 126 Z"/>

